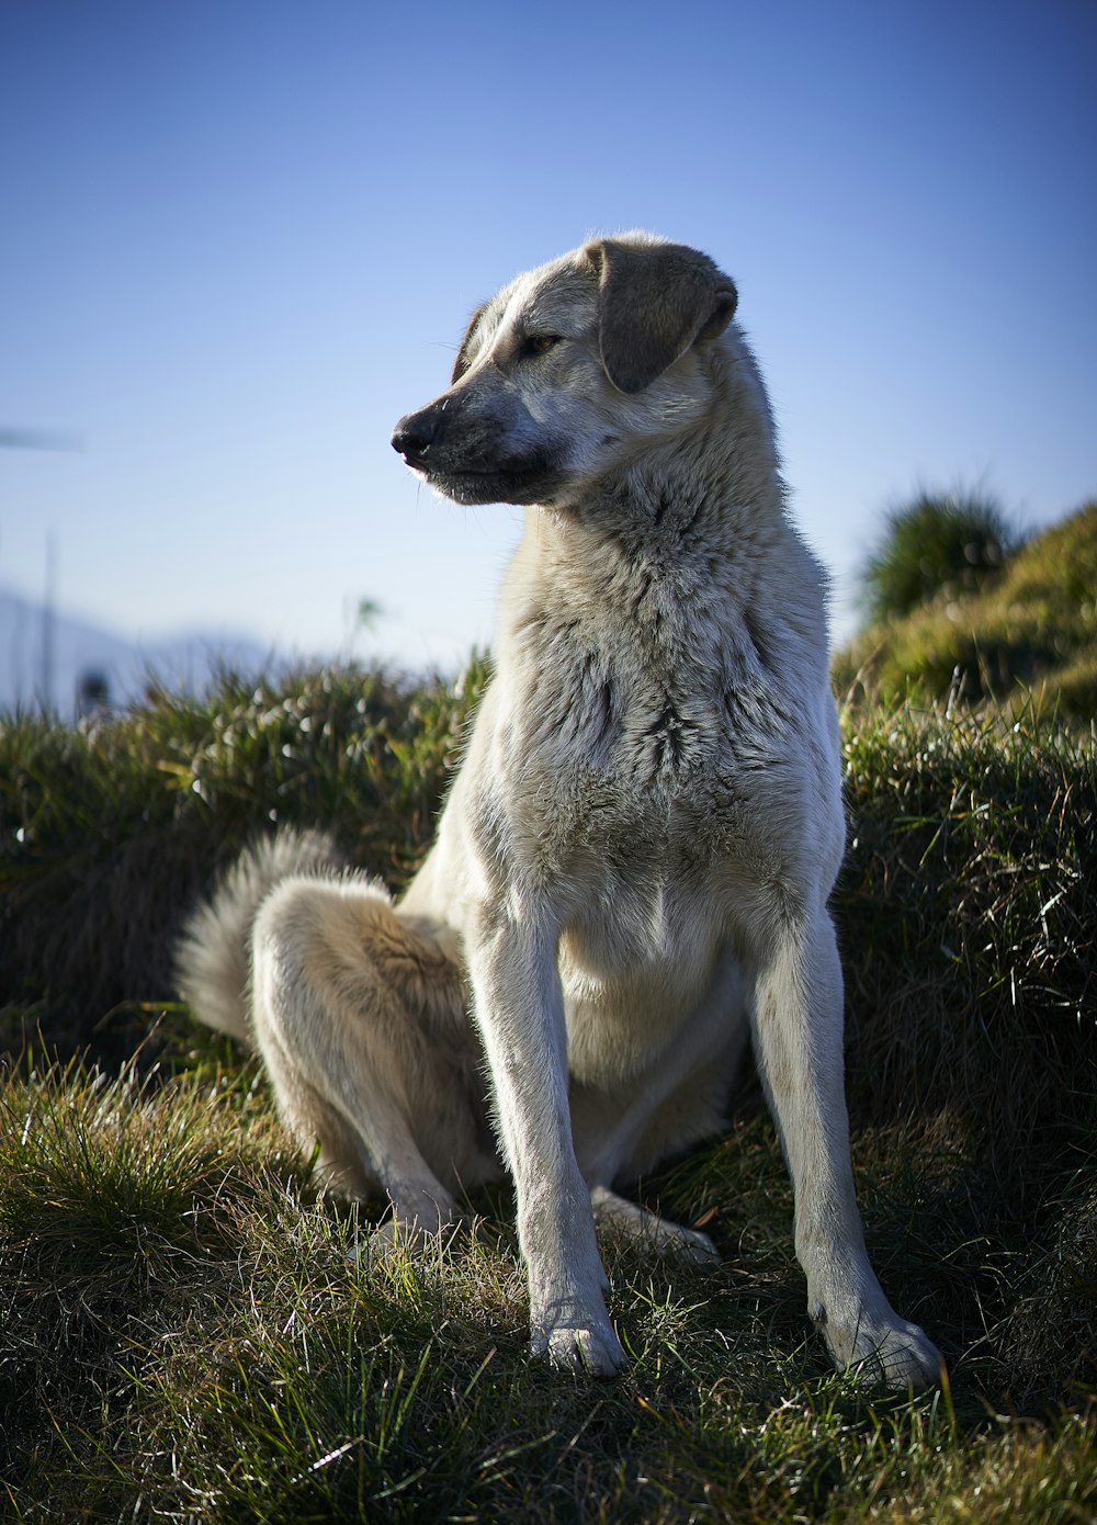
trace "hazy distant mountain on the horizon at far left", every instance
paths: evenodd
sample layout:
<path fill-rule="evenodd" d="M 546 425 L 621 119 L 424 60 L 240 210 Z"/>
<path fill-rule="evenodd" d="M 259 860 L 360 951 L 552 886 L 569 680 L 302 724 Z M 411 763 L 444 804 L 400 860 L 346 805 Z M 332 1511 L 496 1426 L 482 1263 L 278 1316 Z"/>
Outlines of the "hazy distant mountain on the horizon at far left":
<path fill-rule="evenodd" d="M 90 708 L 102 688 L 111 705 L 125 705 L 151 680 L 200 692 L 217 668 L 258 674 L 278 665 L 270 647 L 243 634 L 134 642 L 56 610 L 47 631 L 41 604 L 0 589 L 0 711 L 46 702 L 66 717 Z"/>

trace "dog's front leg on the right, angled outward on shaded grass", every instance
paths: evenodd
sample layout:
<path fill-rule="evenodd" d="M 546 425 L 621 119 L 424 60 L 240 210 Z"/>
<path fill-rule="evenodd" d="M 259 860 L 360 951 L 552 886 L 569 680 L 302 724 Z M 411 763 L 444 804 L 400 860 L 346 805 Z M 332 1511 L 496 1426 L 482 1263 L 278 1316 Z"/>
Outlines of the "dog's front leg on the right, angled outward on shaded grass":
<path fill-rule="evenodd" d="M 839 1368 L 888 1386 L 935 1383 L 941 1357 L 900 1319 L 865 1254 L 842 1075 L 842 971 L 827 910 L 770 923 L 754 1011 L 758 1063 L 795 1194 L 807 1305 Z"/>

